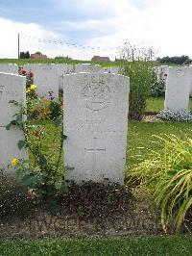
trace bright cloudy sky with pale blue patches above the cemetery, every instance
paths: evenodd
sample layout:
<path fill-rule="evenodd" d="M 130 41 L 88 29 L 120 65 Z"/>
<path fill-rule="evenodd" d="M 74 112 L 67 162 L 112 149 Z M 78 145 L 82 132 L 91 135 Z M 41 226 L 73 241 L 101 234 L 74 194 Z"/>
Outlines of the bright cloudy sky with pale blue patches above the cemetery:
<path fill-rule="evenodd" d="M 20 51 L 48 57 L 112 60 L 126 41 L 192 57 L 191 12 L 192 0 L 0 0 L 0 58 L 17 58 L 18 33 Z"/>

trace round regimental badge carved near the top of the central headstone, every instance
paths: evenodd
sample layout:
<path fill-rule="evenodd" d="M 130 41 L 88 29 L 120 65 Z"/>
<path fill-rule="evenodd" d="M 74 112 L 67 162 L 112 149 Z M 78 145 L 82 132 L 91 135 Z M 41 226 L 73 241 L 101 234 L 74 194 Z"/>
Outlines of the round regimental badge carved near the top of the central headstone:
<path fill-rule="evenodd" d="M 86 85 L 83 90 L 83 97 L 87 109 L 101 111 L 108 107 L 111 91 L 104 82 L 99 81 Z"/>

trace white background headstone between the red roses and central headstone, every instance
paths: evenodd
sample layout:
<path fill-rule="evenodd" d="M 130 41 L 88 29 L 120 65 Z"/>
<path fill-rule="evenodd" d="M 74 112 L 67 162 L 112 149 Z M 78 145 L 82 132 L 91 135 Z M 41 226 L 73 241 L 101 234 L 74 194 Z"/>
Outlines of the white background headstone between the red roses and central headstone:
<path fill-rule="evenodd" d="M 34 84 L 38 97 L 49 100 L 59 99 L 59 71 L 57 64 L 27 64 L 23 68 L 34 73 Z"/>

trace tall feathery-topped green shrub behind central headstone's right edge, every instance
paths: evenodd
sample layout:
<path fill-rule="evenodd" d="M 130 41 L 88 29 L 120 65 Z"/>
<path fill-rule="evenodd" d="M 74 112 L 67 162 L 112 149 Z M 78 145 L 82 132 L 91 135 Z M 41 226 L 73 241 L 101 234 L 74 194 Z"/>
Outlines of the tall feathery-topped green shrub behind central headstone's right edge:
<path fill-rule="evenodd" d="M 154 79 L 152 50 L 137 49 L 126 43 L 122 49 L 122 59 L 120 73 L 130 77 L 129 117 L 140 120 Z"/>

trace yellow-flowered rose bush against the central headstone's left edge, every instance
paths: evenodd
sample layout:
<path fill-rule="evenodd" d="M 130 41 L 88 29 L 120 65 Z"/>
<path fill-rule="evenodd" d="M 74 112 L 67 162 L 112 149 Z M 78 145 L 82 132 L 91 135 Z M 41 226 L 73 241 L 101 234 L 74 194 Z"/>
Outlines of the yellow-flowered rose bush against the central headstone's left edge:
<path fill-rule="evenodd" d="M 11 103 L 18 106 L 20 111 L 13 116 L 13 120 L 6 128 L 10 130 L 12 126 L 16 126 L 23 132 L 24 139 L 18 141 L 18 148 L 21 150 L 27 147 L 31 154 L 30 165 L 29 161 L 12 159 L 12 166 L 15 166 L 20 184 L 40 198 L 57 197 L 67 193 L 64 167 L 60 168 L 63 140 L 66 139 L 66 136 L 63 135 L 62 116 L 56 118 L 54 122 L 60 128 L 60 138 L 59 141 L 54 138 L 50 146 L 53 146 L 54 142 L 60 143 L 60 146 L 58 152 L 53 154 L 43 143 L 46 130 L 41 125 L 31 124 L 26 118 L 23 118 L 23 115 L 27 115 L 27 108 L 13 100 Z"/>

